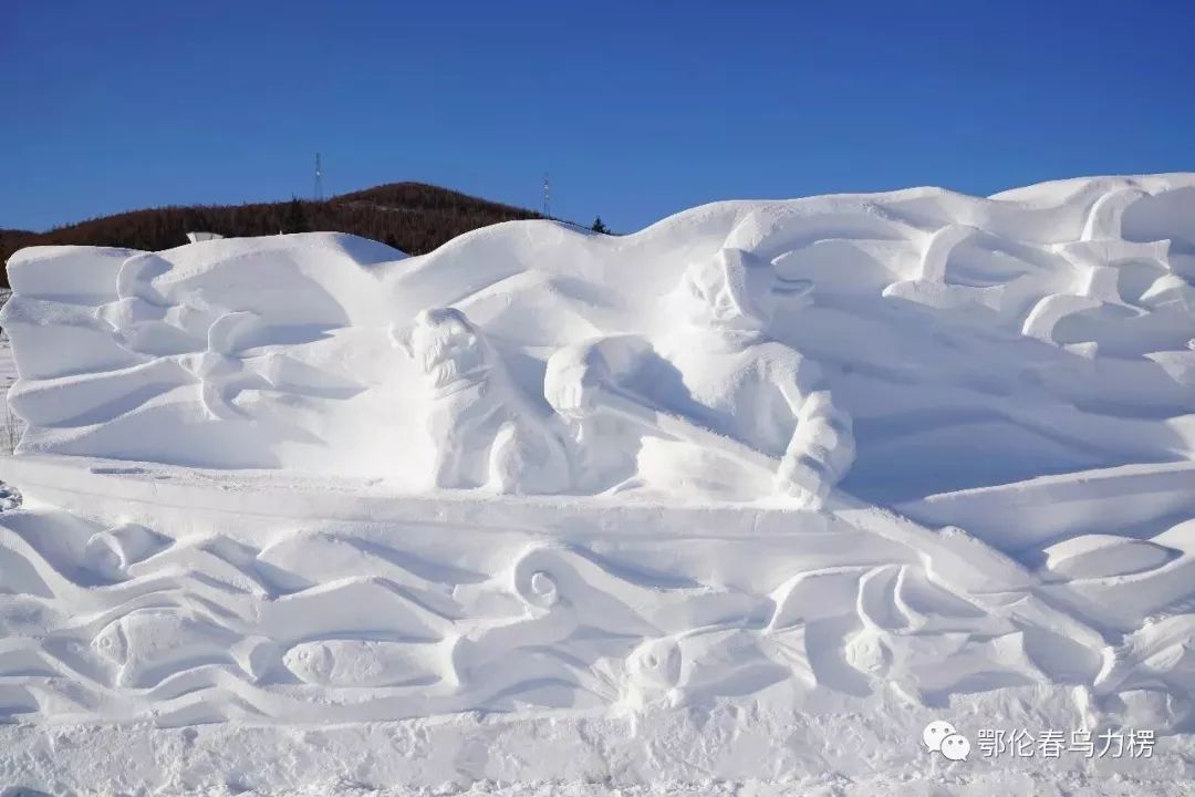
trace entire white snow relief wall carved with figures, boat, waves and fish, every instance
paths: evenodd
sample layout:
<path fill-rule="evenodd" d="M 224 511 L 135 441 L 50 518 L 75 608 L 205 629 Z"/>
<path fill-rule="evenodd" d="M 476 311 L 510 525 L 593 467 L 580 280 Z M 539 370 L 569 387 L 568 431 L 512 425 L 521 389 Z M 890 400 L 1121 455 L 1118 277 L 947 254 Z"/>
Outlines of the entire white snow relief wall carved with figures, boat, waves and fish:
<path fill-rule="evenodd" d="M 1195 174 L 8 276 L 0 789 L 1195 792 Z"/>

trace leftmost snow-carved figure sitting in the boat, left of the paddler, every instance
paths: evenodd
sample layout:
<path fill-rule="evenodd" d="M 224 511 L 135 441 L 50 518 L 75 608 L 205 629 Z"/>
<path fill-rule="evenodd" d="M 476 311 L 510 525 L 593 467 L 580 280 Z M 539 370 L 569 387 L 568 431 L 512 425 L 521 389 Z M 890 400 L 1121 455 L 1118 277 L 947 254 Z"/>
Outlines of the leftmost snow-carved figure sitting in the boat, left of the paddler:
<path fill-rule="evenodd" d="M 550 415 L 534 406 L 501 357 L 458 309 L 421 312 L 394 342 L 425 381 L 431 486 L 563 492 L 569 455 Z"/>

